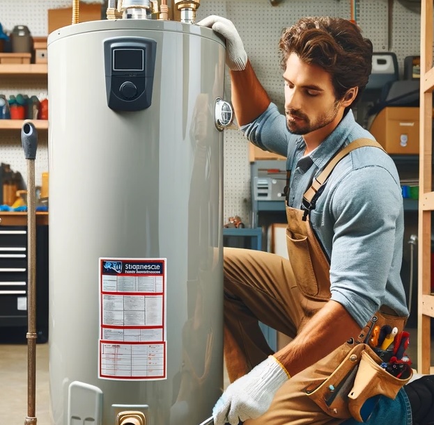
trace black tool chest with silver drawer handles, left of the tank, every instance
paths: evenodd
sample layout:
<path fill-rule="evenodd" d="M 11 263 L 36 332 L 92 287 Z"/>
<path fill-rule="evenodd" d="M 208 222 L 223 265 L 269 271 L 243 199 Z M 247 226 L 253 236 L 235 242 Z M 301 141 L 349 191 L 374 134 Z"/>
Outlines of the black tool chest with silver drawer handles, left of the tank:
<path fill-rule="evenodd" d="M 28 252 L 27 226 L 0 223 L 0 335 L 20 332 L 26 338 Z M 48 225 L 36 226 L 36 330 L 48 339 Z"/>

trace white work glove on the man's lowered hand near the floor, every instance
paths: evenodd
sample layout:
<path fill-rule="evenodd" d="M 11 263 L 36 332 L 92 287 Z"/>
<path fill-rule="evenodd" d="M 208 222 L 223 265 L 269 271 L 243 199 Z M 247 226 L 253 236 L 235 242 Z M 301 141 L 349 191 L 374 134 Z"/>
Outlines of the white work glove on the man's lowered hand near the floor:
<path fill-rule="evenodd" d="M 270 355 L 227 387 L 212 409 L 214 425 L 238 425 L 240 421 L 260 417 L 289 378 L 286 369 Z"/>

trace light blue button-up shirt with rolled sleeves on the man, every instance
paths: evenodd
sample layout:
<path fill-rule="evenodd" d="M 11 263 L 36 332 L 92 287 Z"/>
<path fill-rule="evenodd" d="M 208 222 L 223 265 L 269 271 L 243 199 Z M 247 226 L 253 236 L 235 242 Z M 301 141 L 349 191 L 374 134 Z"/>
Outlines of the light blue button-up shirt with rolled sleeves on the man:
<path fill-rule="evenodd" d="M 291 134 L 277 106 L 242 127 L 263 150 L 287 157 L 291 170 L 290 207 L 301 208 L 314 176 L 342 147 L 374 137 L 349 111 L 316 150 L 303 157 L 302 136 Z M 363 327 L 381 305 L 408 316 L 401 281 L 404 213 L 394 161 L 378 147 L 360 147 L 330 175 L 310 214 L 313 231 L 330 259 L 332 300 L 341 303 Z M 296 261 L 296 259 L 293 259 Z"/>

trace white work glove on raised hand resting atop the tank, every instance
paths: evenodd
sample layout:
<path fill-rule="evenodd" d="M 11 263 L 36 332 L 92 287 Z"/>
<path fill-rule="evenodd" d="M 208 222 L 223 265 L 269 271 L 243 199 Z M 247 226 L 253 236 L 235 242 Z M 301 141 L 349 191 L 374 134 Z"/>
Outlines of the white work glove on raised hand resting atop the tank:
<path fill-rule="evenodd" d="M 233 71 L 242 71 L 246 67 L 247 53 L 242 45 L 240 34 L 235 25 L 224 17 L 211 15 L 197 22 L 198 25 L 213 29 L 226 40 L 226 65 Z"/>

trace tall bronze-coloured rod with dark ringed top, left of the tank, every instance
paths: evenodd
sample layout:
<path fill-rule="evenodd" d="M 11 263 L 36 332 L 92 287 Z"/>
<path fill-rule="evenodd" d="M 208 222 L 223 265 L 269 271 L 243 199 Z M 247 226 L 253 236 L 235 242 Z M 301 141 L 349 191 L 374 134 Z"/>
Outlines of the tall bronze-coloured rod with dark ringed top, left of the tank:
<path fill-rule="evenodd" d="M 35 425 L 36 419 L 36 207 L 35 158 L 38 132 L 31 122 L 24 122 L 21 141 L 27 163 L 27 246 L 29 252 L 27 271 L 27 417 L 24 424 Z"/>

